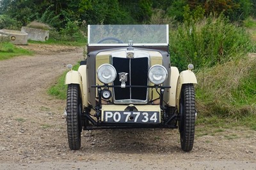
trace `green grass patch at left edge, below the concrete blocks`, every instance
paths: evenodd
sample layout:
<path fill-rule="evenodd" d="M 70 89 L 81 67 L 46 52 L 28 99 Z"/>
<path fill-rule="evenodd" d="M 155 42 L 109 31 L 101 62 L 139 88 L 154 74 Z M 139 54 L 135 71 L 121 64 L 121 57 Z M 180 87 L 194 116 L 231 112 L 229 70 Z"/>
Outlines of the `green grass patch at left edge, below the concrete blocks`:
<path fill-rule="evenodd" d="M 15 56 L 32 56 L 33 52 L 17 47 L 9 42 L 0 43 L 0 60 L 10 59 Z"/>

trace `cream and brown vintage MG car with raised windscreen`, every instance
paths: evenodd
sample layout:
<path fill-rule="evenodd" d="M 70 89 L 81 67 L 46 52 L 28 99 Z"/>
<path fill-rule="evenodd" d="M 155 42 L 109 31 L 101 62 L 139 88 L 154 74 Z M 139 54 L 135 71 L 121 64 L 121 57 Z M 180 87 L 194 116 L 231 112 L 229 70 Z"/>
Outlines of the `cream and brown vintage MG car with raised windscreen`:
<path fill-rule="evenodd" d="M 184 151 L 193 148 L 193 65 L 170 64 L 168 25 L 90 25 L 87 56 L 65 77 L 68 145 L 81 131 L 100 128 L 178 128 Z"/>

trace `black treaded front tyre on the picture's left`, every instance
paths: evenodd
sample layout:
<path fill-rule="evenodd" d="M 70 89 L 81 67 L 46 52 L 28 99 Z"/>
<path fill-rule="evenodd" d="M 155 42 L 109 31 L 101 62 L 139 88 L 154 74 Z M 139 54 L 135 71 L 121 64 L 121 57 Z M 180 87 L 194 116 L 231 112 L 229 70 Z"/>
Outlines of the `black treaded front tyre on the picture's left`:
<path fill-rule="evenodd" d="M 81 147 L 81 112 L 82 104 L 78 84 L 68 84 L 67 89 L 67 132 L 70 150 Z"/>

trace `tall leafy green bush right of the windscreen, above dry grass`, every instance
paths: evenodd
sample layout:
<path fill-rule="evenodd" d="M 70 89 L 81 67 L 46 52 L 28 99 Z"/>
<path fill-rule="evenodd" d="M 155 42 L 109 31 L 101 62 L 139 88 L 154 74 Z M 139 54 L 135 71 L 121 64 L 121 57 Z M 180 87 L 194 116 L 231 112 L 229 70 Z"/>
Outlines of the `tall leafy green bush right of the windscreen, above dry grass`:
<path fill-rule="evenodd" d="M 252 50 L 248 33 L 223 15 L 198 21 L 190 19 L 170 32 L 171 61 L 179 69 L 186 69 L 188 63 L 195 68 L 214 66 L 241 58 Z"/>

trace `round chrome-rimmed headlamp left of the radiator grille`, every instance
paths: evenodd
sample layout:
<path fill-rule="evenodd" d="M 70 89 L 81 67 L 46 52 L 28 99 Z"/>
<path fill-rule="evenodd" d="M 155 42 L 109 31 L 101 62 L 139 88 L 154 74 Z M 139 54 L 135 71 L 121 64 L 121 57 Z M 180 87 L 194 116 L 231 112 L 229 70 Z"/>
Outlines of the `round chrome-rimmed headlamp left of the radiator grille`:
<path fill-rule="evenodd" d="M 108 79 L 104 78 L 103 75 L 100 74 L 100 73 L 103 73 L 104 69 L 105 70 L 108 69 L 110 71 L 110 73 L 113 73 L 112 75 L 108 75 L 108 76 L 110 76 Z M 115 79 L 116 79 L 116 69 L 113 65 L 109 65 L 109 64 L 100 65 L 97 70 L 97 77 L 100 82 L 102 82 L 104 84 L 109 84 L 109 83 L 115 81 Z"/>

